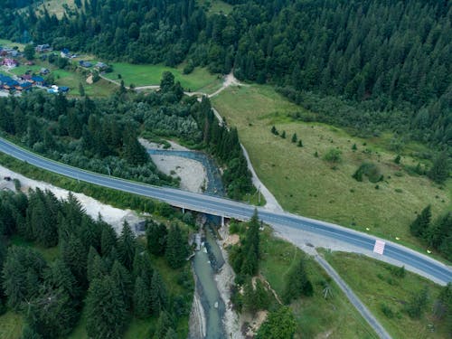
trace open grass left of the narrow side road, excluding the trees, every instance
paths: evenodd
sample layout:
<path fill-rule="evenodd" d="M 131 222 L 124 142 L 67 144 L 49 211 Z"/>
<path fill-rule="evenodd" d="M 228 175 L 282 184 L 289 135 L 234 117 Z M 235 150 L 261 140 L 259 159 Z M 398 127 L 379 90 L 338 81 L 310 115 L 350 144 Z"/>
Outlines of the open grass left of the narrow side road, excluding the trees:
<path fill-rule="evenodd" d="M 263 258 L 260 272 L 280 296 L 284 290 L 287 272 L 301 256 L 306 258 L 306 270 L 314 285 L 314 296 L 303 297 L 292 303 L 297 318 L 297 335 L 301 338 L 377 338 L 372 328 L 349 303 L 325 271 L 287 241 L 280 240 L 266 230 L 261 233 Z M 331 286 L 332 295 L 323 296 L 322 282 Z"/>

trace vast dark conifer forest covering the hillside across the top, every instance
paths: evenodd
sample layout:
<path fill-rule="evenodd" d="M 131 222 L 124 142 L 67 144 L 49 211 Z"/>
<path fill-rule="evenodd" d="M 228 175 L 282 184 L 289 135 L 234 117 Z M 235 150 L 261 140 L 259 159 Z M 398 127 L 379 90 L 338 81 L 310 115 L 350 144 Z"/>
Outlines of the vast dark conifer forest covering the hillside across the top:
<path fill-rule="evenodd" d="M 4 8 L 0 34 L 106 60 L 233 70 L 277 86 L 320 121 L 450 148 L 449 1 L 226 2 L 227 16 L 194 0 L 85 0 L 61 19 Z"/>

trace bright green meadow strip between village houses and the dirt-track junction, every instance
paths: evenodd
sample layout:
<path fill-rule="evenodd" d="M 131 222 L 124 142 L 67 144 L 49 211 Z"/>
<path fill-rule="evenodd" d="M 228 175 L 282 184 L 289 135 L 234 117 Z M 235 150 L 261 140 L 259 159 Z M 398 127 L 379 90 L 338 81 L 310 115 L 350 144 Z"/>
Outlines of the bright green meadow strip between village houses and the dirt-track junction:
<path fill-rule="evenodd" d="M 159 85 L 164 71 L 171 71 L 175 80 L 181 81 L 184 89 L 192 91 L 214 91 L 221 85 L 221 77 L 209 73 L 206 69 L 196 68 L 190 74 L 183 74 L 183 66 L 179 68 L 165 67 L 163 65 L 134 65 L 127 62 L 114 62 L 113 72 L 106 73 L 108 79 L 124 80 L 126 86 L 134 84 L 136 87 Z"/>

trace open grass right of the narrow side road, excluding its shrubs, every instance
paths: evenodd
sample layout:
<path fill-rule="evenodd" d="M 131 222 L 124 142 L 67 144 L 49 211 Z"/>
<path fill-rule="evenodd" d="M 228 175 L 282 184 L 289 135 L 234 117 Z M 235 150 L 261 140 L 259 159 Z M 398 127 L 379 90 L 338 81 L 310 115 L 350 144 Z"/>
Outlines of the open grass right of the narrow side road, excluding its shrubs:
<path fill-rule="evenodd" d="M 440 287 L 416 274 L 406 272 L 404 278 L 391 273 L 394 267 L 381 261 L 354 253 L 326 252 L 325 259 L 334 267 L 353 292 L 369 307 L 372 314 L 393 338 L 447 338 L 444 322 L 431 315 L 433 303 Z M 419 320 L 411 319 L 403 310 L 414 293 L 428 287 L 426 315 Z M 384 315 L 381 306 L 391 308 L 394 316 Z"/>

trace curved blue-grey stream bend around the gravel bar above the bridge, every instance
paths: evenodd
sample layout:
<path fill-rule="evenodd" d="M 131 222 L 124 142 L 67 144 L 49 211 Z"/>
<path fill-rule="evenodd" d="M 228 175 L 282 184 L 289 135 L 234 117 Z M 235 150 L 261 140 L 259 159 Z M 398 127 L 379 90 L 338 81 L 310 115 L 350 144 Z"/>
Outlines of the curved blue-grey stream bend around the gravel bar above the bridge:
<path fill-rule="evenodd" d="M 224 196 L 221 173 L 211 156 L 199 151 L 174 151 L 168 149 L 147 149 L 150 155 L 172 155 L 195 160 L 204 166 L 207 174 L 205 193 Z"/>

